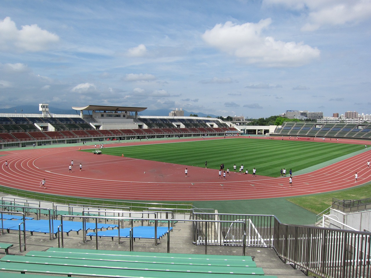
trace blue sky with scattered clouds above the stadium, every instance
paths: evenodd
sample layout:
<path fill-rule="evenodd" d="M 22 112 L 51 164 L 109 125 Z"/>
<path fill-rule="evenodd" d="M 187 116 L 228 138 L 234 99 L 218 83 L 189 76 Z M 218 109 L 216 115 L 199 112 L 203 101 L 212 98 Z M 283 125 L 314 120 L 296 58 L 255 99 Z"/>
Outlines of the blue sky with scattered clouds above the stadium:
<path fill-rule="evenodd" d="M 371 0 L 0 4 L 0 108 L 371 114 Z"/>

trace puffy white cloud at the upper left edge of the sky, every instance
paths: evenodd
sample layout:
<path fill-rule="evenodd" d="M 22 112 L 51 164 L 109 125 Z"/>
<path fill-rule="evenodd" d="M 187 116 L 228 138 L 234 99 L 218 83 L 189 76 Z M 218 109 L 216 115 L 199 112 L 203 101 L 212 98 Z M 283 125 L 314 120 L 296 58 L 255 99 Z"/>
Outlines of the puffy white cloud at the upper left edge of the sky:
<path fill-rule="evenodd" d="M 37 52 L 49 49 L 51 44 L 58 41 L 56 34 L 41 29 L 37 24 L 23 25 L 18 30 L 10 17 L 0 21 L 0 50 Z"/>

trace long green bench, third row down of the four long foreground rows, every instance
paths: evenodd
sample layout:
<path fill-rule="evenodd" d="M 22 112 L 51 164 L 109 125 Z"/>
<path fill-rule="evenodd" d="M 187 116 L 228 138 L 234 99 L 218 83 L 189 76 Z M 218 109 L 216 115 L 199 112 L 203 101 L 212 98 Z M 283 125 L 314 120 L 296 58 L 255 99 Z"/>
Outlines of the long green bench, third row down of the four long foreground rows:
<path fill-rule="evenodd" d="M 117 261 L 97 261 L 81 260 L 70 258 L 45 258 L 45 257 L 24 257 L 16 255 L 6 255 L 0 259 L 6 262 L 20 262 L 29 264 L 47 264 L 47 265 L 65 265 L 70 267 L 88 267 L 88 268 L 113 268 L 142 271 L 164 271 L 164 272 L 187 272 L 194 274 L 202 273 L 219 273 L 219 274 L 251 274 L 264 275 L 260 267 L 226 267 L 226 266 L 209 266 L 209 265 L 176 265 L 176 264 L 153 264 L 148 262 L 117 262 Z M 176 275 L 177 275 L 176 274 Z M 175 275 L 175 274 L 174 274 Z"/>

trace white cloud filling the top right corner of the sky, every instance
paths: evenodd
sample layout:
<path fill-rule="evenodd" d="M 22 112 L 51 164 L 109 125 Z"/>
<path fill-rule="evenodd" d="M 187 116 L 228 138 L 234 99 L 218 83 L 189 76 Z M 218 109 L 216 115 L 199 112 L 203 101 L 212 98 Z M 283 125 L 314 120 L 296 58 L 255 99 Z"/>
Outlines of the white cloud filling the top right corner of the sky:
<path fill-rule="evenodd" d="M 324 25 L 358 23 L 371 17 L 369 0 L 265 0 L 264 3 L 308 13 L 303 31 L 314 31 Z"/>

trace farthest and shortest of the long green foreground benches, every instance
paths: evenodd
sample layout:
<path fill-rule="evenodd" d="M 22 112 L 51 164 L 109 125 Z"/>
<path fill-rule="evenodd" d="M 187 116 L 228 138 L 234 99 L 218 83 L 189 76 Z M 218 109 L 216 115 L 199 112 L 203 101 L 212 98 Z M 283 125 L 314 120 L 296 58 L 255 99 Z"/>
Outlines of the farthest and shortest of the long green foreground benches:
<path fill-rule="evenodd" d="M 131 251 L 115 251 L 115 250 L 56 248 L 56 247 L 51 247 L 47 249 L 46 252 L 98 254 L 98 255 L 102 254 L 102 255 L 137 256 L 137 257 L 154 257 L 154 258 L 204 259 L 204 260 L 214 259 L 214 260 L 221 260 L 221 261 L 242 261 L 242 262 L 253 260 L 252 257 L 250 256 L 131 252 Z"/>

